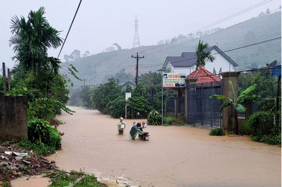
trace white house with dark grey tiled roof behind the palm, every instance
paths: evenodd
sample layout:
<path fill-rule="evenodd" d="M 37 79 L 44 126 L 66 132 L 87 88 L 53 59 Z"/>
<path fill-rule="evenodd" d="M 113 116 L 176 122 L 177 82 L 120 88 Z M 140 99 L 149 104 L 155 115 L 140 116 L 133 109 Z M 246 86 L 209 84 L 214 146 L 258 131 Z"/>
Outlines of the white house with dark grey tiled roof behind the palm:
<path fill-rule="evenodd" d="M 235 71 L 238 66 L 231 58 L 229 58 L 217 45 L 213 45 L 206 49 L 212 52 L 215 57 L 214 62 L 208 62 L 205 69 L 218 73 L 221 69 L 222 72 Z M 186 73 L 190 74 L 196 69 L 197 54 L 196 52 L 183 52 L 181 56 L 168 56 L 162 69 L 170 69 L 172 73 Z"/>

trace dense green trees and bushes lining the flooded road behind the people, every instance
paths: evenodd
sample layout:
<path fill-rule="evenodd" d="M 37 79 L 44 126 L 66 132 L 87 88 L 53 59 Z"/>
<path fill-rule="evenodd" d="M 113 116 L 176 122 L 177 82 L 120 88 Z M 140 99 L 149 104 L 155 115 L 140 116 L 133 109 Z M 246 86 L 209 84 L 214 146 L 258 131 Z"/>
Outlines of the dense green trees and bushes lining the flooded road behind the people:
<path fill-rule="evenodd" d="M 114 78 L 97 86 L 82 86 L 80 90 L 71 93 L 69 104 L 92 106 L 92 108 L 98 109 L 103 114 L 108 114 L 113 118 L 125 116 L 126 103 L 129 105 L 127 107 L 128 118 L 146 118 L 152 109 L 160 112 L 162 109 L 161 74 L 156 72 L 145 73 L 140 76 L 139 80 L 138 85 L 134 88 L 130 85 L 122 87 L 118 79 Z M 127 102 L 125 100 L 126 92 L 131 93 L 131 98 Z M 163 100 L 175 97 L 177 97 L 175 90 L 164 89 Z"/>

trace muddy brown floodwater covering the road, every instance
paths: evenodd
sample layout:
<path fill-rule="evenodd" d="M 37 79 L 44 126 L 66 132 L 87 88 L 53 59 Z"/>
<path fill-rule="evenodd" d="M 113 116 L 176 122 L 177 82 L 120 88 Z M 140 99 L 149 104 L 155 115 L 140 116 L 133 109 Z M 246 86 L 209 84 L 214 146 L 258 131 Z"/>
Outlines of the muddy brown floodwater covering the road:
<path fill-rule="evenodd" d="M 132 184 L 155 187 L 281 186 L 281 148 L 251 142 L 242 136 L 209 136 L 202 127 L 148 125 L 150 140 L 128 141 L 133 121 L 117 135 L 118 119 L 97 110 L 70 107 L 63 150 L 48 157 L 65 170 L 94 173 L 102 179 L 123 177 Z M 138 139 L 138 138 L 137 138 Z"/>

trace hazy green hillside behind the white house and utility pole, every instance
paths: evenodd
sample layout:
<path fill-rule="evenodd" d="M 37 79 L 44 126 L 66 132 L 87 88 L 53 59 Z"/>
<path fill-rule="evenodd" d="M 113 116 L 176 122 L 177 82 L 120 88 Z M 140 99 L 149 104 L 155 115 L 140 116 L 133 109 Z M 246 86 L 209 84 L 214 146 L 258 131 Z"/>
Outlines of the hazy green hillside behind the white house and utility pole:
<path fill-rule="evenodd" d="M 122 76 L 116 76 L 115 78 L 123 79 L 123 82 L 135 77 L 135 71 L 132 70 L 134 69 L 136 60 L 135 58 L 129 57 L 135 55 L 136 52 L 139 52 L 139 56 L 145 56 L 144 59 L 139 60 L 139 74 L 148 71 L 154 72 L 162 68 L 167 56 L 180 56 L 182 52 L 195 51 L 199 42 L 197 37 L 201 37 L 202 35 L 205 35 L 205 32 L 200 32 L 190 38 L 181 39 L 160 47 L 152 45 L 114 50 L 77 58 L 70 63 L 79 70 L 77 75 L 81 79 L 87 79 L 85 85 L 95 85 L 105 82 L 108 78 L 115 76 L 116 73 Z M 231 26 L 220 32 L 205 36 L 201 38 L 201 40 L 210 45 L 218 43 L 218 47 L 222 51 L 227 51 L 277 37 L 281 37 L 281 11 L 266 14 Z M 196 40 L 191 41 L 193 39 Z M 150 49 L 152 47 L 156 48 Z M 142 52 L 146 49 L 148 49 L 148 51 Z M 281 62 L 281 39 L 252 47 L 228 51 L 226 54 L 231 56 L 231 59 L 239 65 L 236 70 L 247 70 L 252 67 L 259 67 L 274 60 Z M 127 58 L 129 59 L 126 60 Z M 118 66 L 119 64 L 120 66 Z M 115 68 L 116 66 L 118 67 Z M 124 68 L 124 71 L 121 68 Z M 104 72 L 109 70 L 112 71 Z M 124 72 L 132 72 L 132 75 L 124 74 Z M 125 76 L 127 77 L 124 78 Z M 72 80 L 74 85 L 83 85 L 81 81 L 75 80 L 74 78 L 72 78 Z"/>

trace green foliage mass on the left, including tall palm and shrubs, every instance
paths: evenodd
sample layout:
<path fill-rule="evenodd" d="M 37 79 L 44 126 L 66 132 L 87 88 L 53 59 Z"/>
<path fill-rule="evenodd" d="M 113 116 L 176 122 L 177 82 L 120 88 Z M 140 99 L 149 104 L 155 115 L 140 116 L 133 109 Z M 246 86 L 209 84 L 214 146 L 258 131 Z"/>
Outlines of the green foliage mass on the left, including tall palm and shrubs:
<path fill-rule="evenodd" d="M 59 31 L 51 27 L 43 16 L 45 9 L 30 11 L 28 18 L 14 16 L 11 20 L 13 46 L 16 65 L 12 69 L 11 90 L 7 96 L 27 96 L 28 138 L 18 145 L 31 148 L 36 153 L 53 152 L 61 141 L 61 134 L 48 121 L 55 121 L 61 110 L 72 114 L 66 107 L 71 83 L 67 75 L 59 74 L 60 61 L 48 56 L 48 49 L 56 49 L 62 44 Z M 76 69 L 70 64 L 70 73 Z M 1 77 L 2 78 L 2 77 Z M 0 94 L 3 95 L 3 81 L 0 80 Z M 57 122 L 56 122 L 57 124 Z"/>

